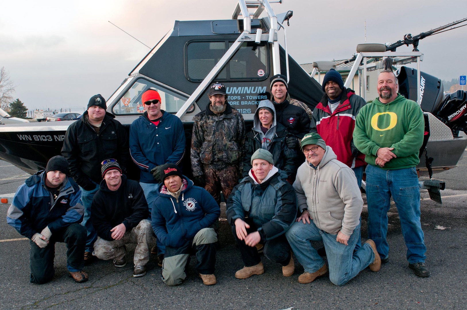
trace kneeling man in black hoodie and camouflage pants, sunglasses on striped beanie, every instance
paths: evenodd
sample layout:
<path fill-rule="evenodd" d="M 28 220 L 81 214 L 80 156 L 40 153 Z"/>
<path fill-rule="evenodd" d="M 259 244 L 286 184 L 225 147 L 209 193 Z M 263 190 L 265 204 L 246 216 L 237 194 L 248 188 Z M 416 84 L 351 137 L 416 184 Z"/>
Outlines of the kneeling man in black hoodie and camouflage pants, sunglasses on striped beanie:
<path fill-rule="evenodd" d="M 102 162 L 102 182 L 92 199 L 92 225 L 97 231 L 92 255 L 113 260 L 115 267 L 127 265 L 128 243 L 135 243 L 133 276 L 146 275 L 152 230 L 148 203 L 141 185 L 121 173 L 115 159 Z"/>

